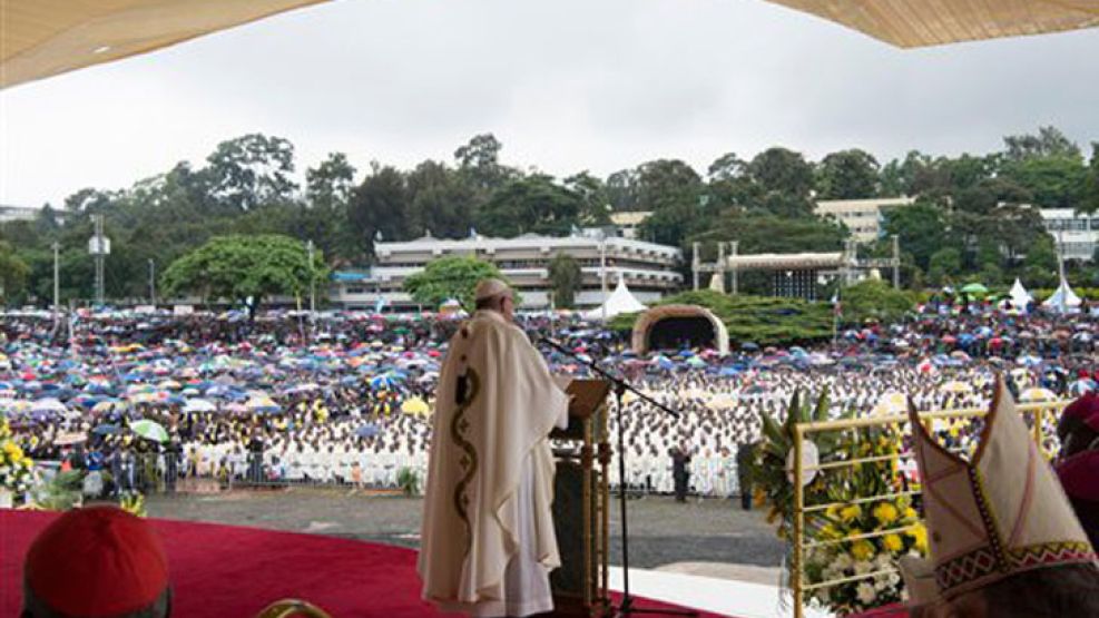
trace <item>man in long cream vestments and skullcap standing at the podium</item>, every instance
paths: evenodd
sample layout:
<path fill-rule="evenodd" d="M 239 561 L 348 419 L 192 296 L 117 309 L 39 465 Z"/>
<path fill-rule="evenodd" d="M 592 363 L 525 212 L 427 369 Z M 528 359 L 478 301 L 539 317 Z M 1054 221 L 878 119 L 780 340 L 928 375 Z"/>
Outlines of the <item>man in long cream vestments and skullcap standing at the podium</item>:
<path fill-rule="evenodd" d="M 529 616 L 553 609 L 549 573 L 553 459 L 547 436 L 569 396 L 512 323 L 511 291 L 477 287 L 478 311 L 451 339 L 435 398 L 418 569 L 443 611 Z"/>

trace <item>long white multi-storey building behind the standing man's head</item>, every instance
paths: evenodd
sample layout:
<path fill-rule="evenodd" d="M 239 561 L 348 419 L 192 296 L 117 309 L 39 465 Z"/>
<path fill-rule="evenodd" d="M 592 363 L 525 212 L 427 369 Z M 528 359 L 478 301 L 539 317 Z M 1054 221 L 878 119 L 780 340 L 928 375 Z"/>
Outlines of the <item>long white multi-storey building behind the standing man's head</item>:
<path fill-rule="evenodd" d="M 606 264 L 608 294 L 619 277 L 625 277 L 634 295 L 645 303 L 674 293 L 683 285 L 683 275 L 676 272 L 683 259 L 678 248 L 617 236 L 601 237 L 595 230 L 560 238 L 537 234 L 460 239 L 424 236 L 403 243 L 375 244 L 376 264 L 369 273 L 337 273 L 333 277 L 331 300 L 347 308 L 375 307 L 380 302 L 387 307 L 415 307 L 403 291 L 405 278 L 421 272 L 432 259 L 471 256 L 495 264 L 518 287 L 523 308 L 543 308 L 550 306 L 549 263 L 559 253 L 572 256 L 580 265 L 583 276 L 576 296 L 580 307 L 602 303 L 602 264 Z"/>

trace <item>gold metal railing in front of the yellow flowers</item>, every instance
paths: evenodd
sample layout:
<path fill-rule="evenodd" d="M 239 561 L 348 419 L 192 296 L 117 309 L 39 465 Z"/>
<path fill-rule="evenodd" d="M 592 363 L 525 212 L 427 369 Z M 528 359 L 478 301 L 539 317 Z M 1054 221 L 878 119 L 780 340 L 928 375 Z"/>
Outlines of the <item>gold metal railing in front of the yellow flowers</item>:
<path fill-rule="evenodd" d="M 1039 449 L 1046 453 L 1047 457 L 1052 454 L 1054 450 L 1051 443 L 1051 435 L 1047 431 L 1051 429 L 1048 426 L 1049 421 L 1052 419 L 1056 423 L 1054 413 L 1060 412 L 1068 401 L 1054 401 L 1048 403 L 1029 403 L 1020 404 L 1017 409 L 1028 419 L 1031 424 L 1034 442 L 1038 444 Z M 958 419 L 975 419 L 983 418 L 987 413 L 984 409 L 959 409 L 959 410 L 942 410 L 935 412 L 921 412 L 920 420 L 929 429 L 931 433 L 934 430 L 934 423 L 939 420 L 958 420 Z M 866 457 L 866 458 L 855 458 L 851 460 L 843 461 L 822 461 L 816 464 L 807 464 L 804 461 L 804 441 L 811 439 L 813 435 L 820 435 L 827 432 L 842 432 L 842 431 L 865 431 L 871 429 L 886 429 L 896 428 L 899 430 L 907 429 L 909 424 L 907 415 L 891 415 L 891 416 L 870 416 L 860 419 L 846 419 L 840 421 L 823 421 L 816 423 L 802 423 L 794 426 L 794 470 L 793 478 L 795 480 L 801 480 L 802 474 L 807 471 L 828 471 L 842 468 L 851 468 L 860 465 L 863 463 L 875 463 L 882 461 L 911 459 L 914 457 L 913 453 L 899 453 L 893 455 L 877 455 L 877 457 Z M 812 441 L 812 440 L 811 440 Z M 861 539 L 872 539 L 882 537 L 890 533 L 896 533 L 899 531 L 910 530 L 912 527 L 903 527 L 892 530 L 880 530 L 876 532 L 867 532 L 857 536 L 848 536 L 835 540 L 827 541 L 811 541 L 806 542 L 805 538 L 805 516 L 824 511 L 831 507 L 847 507 L 851 504 L 865 504 L 869 502 L 875 502 L 879 500 L 896 499 L 900 497 L 919 496 L 920 491 L 902 491 L 893 493 L 882 493 L 877 496 L 865 496 L 860 497 L 855 500 L 847 502 L 831 502 L 821 504 L 806 504 L 805 503 L 805 490 L 801 482 L 794 483 L 794 531 L 793 531 L 793 558 L 791 565 L 791 588 L 794 594 L 794 618 L 803 618 L 805 612 L 805 594 L 817 590 L 821 588 L 828 588 L 832 586 L 837 586 L 841 583 L 848 583 L 852 581 L 860 581 L 864 579 L 870 579 L 875 576 L 881 576 L 890 572 L 897 572 L 897 568 L 879 570 L 875 572 L 867 572 L 862 575 L 855 575 L 851 577 L 844 577 L 835 580 L 818 581 L 814 583 L 807 583 L 805 580 L 805 551 L 816 547 L 824 547 L 830 545 L 843 543 L 857 541 Z"/>

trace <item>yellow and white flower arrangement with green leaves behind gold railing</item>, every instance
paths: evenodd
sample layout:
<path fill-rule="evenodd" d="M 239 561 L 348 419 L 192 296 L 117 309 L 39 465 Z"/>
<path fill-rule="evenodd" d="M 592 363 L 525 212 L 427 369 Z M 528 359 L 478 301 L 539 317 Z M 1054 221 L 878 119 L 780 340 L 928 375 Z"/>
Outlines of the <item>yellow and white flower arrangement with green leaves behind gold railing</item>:
<path fill-rule="evenodd" d="M 763 416 L 764 441 L 752 467 L 756 501 L 769 503 L 767 521 L 793 551 L 794 485 L 789 473 L 794 423 L 827 420 L 827 394 L 809 409 L 794 395 L 786 420 Z M 853 462 L 820 471 L 803 490 L 804 503 L 831 504 L 804 513 L 803 581 L 825 583 L 858 578 L 808 594 L 816 605 L 855 614 L 903 599 L 897 560 L 926 553 L 928 533 L 897 469 L 900 435 L 889 429 L 814 434 L 822 462 Z M 870 460 L 870 461 L 860 461 Z M 866 577 L 863 577 L 866 576 Z"/>

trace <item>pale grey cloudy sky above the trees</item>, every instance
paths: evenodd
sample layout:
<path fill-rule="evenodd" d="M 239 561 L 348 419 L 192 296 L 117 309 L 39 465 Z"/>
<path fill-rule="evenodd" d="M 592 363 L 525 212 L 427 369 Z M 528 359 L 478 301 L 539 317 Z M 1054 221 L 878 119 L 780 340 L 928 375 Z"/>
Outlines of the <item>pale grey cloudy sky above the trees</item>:
<path fill-rule="evenodd" d="M 506 163 L 705 171 L 783 145 L 987 153 L 1099 140 L 1099 30 L 899 50 L 763 0 L 336 0 L 0 92 L 0 203 L 127 187 L 226 138 L 411 167 L 491 131 Z"/>

